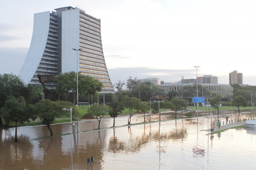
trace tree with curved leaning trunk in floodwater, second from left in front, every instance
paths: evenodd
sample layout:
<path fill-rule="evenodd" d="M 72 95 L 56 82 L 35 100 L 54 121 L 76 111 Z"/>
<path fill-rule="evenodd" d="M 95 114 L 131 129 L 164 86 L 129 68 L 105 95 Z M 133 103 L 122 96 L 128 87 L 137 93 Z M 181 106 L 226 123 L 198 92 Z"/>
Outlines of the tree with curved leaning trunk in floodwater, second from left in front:
<path fill-rule="evenodd" d="M 36 108 L 37 116 L 42 120 L 44 125 L 47 125 L 47 128 L 50 130 L 51 136 L 52 129 L 50 124 L 54 121 L 55 118 L 61 117 L 64 115 L 69 115 L 69 112 L 62 110 L 63 108 L 70 108 L 72 104 L 68 101 L 51 101 L 51 100 L 40 100 L 34 105 Z M 78 111 L 76 107 L 72 107 L 72 114 L 77 115 Z"/>

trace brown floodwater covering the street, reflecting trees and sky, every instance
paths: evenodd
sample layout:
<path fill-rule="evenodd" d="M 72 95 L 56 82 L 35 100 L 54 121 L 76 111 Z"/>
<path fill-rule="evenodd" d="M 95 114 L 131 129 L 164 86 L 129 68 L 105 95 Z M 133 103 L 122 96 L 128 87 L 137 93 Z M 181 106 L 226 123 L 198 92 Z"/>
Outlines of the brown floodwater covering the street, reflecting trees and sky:
<path fill-rule="evenodd" d="M 248 112 L 248 111 L 247 111 Z M 205 112 L 204 112 L 205 113 Z M 207 114 L 207 110 L 206 110 Z M 161 120 L 175 113 L 161 114 Z M 178 118 L 180 118 L 180 113 Z M 239 119 L 253 119 L 253 113 L 243 113 Z M 226 115 L 213 117 L 223 125 Z M 229 116 L 229 120 L 230 120 Z M 238 114 L 232 115 L 232 120 Z M 151 121 L 157 121 L 152 115 Z M 131 123 L 143 122 L 143 115 L 132 116 Z M 149 115 L 146 115 L 149 121 Z M 128 117 L 116 118 L 116 126 L 126 125 Z M 209 123 L 209 125 L 208 125 Z M 224 122 L 227 123 L 226 121 Z M 118 128 L 113 118 L 79 122 L 79 133 L 73 134 L 73 169 L 254 169 L 256 131 L 250 128 L 228 129 L 206 135 L 211 118 L 169 120 Z M 51 125 L 53 135 L 70 133 L 70 123 Z M 76 130 L 73 126 L 73 132 Z M 206 131 L 205 131 L 206 130 Z M 0 129 L 0 169 L 71 169 L 70 135 L 32 140 L 50 135 L 46 126 Z M 87 158 L 94 163 L 87 165 Z"/>

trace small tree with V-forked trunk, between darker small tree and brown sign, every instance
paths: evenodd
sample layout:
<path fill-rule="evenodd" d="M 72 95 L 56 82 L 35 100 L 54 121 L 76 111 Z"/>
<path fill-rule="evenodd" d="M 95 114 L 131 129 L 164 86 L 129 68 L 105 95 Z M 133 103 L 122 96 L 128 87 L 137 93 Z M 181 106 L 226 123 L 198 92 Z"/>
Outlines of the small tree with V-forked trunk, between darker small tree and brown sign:
<path fill-rule="evenodd" d="M 124 96 L 122 99 L 122 103 L 124 104 L 124 107 L 129 109 L 130 116 L 128 118 L 128 124 L 131 124 L 131 118 L 132 116 L 140 110 L 140 99 L 136 97 L 129 98 L 128 96 Z"/>

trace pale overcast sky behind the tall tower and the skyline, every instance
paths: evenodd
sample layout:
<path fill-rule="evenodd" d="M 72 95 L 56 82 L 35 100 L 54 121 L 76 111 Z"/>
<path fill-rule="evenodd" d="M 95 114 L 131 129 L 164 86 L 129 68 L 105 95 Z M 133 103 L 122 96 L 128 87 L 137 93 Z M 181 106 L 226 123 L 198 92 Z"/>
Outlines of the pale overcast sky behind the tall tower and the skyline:
<path fill-rule="evenodd" d="M 34 13 L 73 6 L 101 19 L 112 83 L 129 77 L 165 82 L 203 75 L 228 84 L 243 73 L 256 85 L 255 0 L 26 0 L 0 11 L 0 74 L 18 74 L 28 52 Z M 76 48 L 76 47 L 74 47 Z"/>

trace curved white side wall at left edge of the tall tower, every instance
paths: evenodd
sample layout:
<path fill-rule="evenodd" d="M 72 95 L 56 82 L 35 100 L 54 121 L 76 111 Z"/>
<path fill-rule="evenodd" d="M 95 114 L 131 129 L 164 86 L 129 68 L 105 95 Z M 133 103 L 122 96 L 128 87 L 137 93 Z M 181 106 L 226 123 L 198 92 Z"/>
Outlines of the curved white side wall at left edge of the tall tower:
<path fill-rule="evenodd" d="M 50 11 L 34 14 L 33 34 L 28 54 L 19 76 L 25 84 L 30 83 L 44 54 L 50 26 Z"/>

